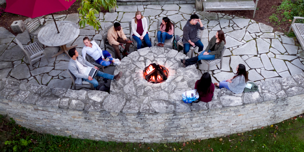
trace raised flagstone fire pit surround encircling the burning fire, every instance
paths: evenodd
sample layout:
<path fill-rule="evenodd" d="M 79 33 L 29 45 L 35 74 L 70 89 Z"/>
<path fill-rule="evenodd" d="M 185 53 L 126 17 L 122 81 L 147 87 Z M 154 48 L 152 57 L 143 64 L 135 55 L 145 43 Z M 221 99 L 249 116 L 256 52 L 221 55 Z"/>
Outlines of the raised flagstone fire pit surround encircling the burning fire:
<path fill-rule="evenodd" d="M 115 109 L 125 113 L 190 112 L 181 95 L 194 89 L 199 76 L 195 65 L 186 68 L 182 66 L 180 59 L 183 58 L 188 57 L 177 50 L 164 47 L 146 47 L 124 57 L 114 71 L 114 75 L 122 71 L 123 76 L 119 81 L 111 82 L 110 94 L 113 96 L 112 100 L 117 102 L 112 102 L 113 105 L 105 107 L 105 110 Z M 162 77 L 164 81 L 157 81 L 157 74 L 161 73 L 157 71 L 154 75 L 156 81 L 151 83 L 151 74 L 146 74 L 150 65 L 154 65 L 155 69 L 159 68 L 167 78 Z M 149 76 L 149 82 L 145 76 Z M 122 96 L 127 101 L 125 106 L 125 102 L 120 103 Z M 123 106 L 123 109 L 119 108 Z"/>

